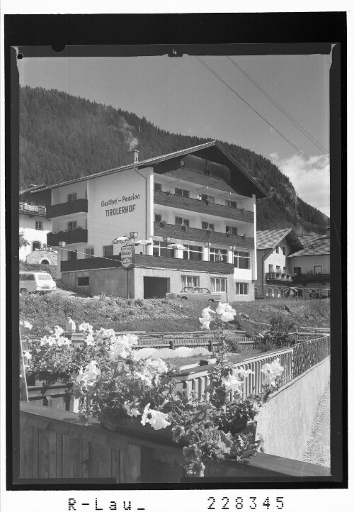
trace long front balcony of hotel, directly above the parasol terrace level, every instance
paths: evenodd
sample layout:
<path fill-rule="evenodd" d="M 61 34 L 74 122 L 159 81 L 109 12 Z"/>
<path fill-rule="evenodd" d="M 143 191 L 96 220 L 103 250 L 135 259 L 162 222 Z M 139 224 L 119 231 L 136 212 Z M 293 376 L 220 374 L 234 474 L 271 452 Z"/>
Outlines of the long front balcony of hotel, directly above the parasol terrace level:
<path fill-rule="evenodd" d="M 174 224 L 166 224 L 154 222 L 154 236 L 169 236 L 173 240 L 183 240 L 183 243 L 197 242 L 204 244 L 210 242 L 212 245 L 236 245 L 240 249 L 254 249 L 254 238 L 239 235 L 227 235 L 226 233 L 218 233 L 212 231 L 208 233 L 205 229 L 197 228 L 181 228 Z M 171 240 L 172 242 L 172 240 Z"/>

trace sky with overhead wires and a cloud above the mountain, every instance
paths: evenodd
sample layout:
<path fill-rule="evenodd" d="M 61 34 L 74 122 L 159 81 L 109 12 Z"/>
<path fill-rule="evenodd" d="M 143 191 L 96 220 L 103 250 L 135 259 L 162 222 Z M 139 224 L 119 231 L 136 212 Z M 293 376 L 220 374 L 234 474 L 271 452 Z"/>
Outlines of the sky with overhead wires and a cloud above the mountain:
<path fill-rule="evenodd" d="M 253 81 L 307 130 L 312 140 L 280 113 L 226 56 L 202 59 L 250 106 L 189 55 L 24 57 L 18 60 L 18 69 L 21 85 L 58 89 L 134 112 L 173 133 L 224 140 L 253 150 L 290 178 L 299 197 L 329 215 L 326 150 L 331 55 L 232 56 Z M 314 144 L 313 138 L 322 148 Z"/>

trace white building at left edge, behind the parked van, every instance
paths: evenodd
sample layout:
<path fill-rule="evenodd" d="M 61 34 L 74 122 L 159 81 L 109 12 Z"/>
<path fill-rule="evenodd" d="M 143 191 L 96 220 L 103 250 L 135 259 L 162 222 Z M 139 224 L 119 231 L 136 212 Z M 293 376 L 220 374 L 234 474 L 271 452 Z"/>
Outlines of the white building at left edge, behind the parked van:
<path fill-rule="evenodd" d="M 25 261 L 32 252 L 47 247 L 47 234 L 52 230 L 52 221 L 47 218 L 46 207 L 35 201 L 21 199 L 19 204 L 19 227 L 29 245 L 20 247 L 20 260 Z M 47 259 L 47 257 L 43 257 Z"/>

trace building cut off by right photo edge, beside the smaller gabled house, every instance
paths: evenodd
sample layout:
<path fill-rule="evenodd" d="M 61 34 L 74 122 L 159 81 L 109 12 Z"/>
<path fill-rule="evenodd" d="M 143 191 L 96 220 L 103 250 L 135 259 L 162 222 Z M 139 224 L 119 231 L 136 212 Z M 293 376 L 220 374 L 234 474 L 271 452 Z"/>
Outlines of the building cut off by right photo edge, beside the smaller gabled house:
<path fill-rule="evenodd" d="M 304 299 L 331 296 L 330 234 L 299 238 L 303 248 L 289 255 L 292 282 Z"/>

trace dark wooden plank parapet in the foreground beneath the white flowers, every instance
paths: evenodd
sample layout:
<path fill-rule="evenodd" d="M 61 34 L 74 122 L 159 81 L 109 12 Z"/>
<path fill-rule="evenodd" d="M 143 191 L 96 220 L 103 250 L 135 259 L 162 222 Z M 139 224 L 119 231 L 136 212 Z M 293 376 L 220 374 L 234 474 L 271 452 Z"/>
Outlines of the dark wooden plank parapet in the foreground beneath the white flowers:
<path fill-rule="evenodd" d="M 150 434 L 149 428 L 144 426 L 147 433 L 111 432 L 96 420 L 82 425 L 75 413 L 21 402 L 16 483 L 21 484 L 21 479 L 30 479 L 33 484 L 38 479 L 66 479 L 70 484 L 74 479 L 89 478 L 114 479 L 118 484 L 187 482 L 182 446 L 167 438 L 167 432 L 161 435 L 151 429 Z M 205 477 L 304 482 L 329 478 L 330 469 L 258 453 L 244 462 L 207 465 Z"/>

